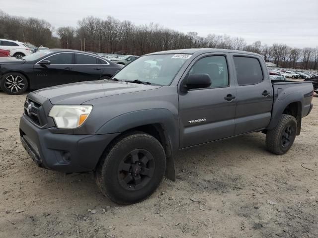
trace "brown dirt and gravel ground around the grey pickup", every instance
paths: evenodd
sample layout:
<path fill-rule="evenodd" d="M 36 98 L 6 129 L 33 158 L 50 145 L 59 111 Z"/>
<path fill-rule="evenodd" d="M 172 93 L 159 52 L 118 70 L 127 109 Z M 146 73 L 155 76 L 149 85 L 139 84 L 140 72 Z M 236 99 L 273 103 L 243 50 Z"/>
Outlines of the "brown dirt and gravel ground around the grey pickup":
<path fill-rule="evenodd" d="M 184 150 L 175 182 L 118 206 L 92 174 L 32 162 L 19 141 L 24 100 L 0 92 L 1 238 L 318 237 L 317 106 L 286 155 L 267 152 L 262 133 Z"/>

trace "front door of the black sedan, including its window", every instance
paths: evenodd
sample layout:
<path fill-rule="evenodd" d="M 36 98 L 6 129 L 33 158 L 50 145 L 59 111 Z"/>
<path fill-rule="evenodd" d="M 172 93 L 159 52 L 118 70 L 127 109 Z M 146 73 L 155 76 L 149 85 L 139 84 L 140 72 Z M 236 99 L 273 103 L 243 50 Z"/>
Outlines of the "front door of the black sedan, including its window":
<path fill-rule="evenodd" d="M 50 60 L 51 64 L 40 64 L 41 60 L 34 64 L 36 88 L 74 82 L 74 53 L 57 53 L 42 60 Z"/>

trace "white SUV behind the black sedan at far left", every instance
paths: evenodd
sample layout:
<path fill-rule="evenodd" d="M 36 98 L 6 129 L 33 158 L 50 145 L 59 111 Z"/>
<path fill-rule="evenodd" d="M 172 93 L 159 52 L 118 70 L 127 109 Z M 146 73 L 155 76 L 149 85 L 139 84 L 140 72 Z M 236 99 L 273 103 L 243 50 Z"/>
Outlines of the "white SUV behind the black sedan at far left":
<path fill-rule="evenodd" d="M 32 52 L 23 42 L 0 39 L 0 49 L 10 50 L 10 56 L 22 58 Z"/>

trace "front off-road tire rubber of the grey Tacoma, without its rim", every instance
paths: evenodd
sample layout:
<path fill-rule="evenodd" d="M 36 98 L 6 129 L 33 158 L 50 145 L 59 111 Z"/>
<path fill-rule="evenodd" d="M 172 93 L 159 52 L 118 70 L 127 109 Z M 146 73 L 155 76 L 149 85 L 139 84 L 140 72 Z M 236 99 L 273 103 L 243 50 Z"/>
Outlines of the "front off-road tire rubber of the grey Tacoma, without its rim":
<path fill-rule="evenodd" d="M 136 149 L 148 151 L 152 155 L 152 165 L 155 167 L 152 177 L 147 178 L 142 188 L 129 190 L 130 188 L 122 185 L 123 179 L 120 180 L 119 170 L 122 161 Z M 165 167 L 165 152 L 160 142 L 147 133 L 135 131 L 115 139 L 105 150 L 96 167 L 95 179 L 101 192 L 115 203 L 133 204 L 146 199 L 157 189 Z M 131 189 L 134 189 L 134 186 Z"/>

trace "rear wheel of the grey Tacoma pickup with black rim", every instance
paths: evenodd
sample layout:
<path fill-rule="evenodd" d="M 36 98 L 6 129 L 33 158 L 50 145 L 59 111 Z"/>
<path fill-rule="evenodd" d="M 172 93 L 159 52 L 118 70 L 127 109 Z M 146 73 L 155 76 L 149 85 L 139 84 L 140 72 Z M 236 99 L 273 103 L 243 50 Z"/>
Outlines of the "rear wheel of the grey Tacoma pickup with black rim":
<path fill-rule="evenodd" d="M 283 114 L 277 125 L 266 134 L 266 148 L 270 152 L 282 155 L 292 147 L 296 138 L 297 120 L 293 116 Z"/>

